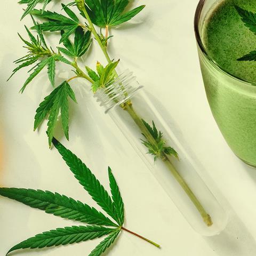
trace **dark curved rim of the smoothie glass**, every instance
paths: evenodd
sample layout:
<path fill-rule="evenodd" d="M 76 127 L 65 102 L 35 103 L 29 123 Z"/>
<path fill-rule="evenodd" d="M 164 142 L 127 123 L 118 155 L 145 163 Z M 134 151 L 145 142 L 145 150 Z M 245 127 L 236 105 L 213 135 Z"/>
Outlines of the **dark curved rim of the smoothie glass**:
<path fill-rule="evenodd" d="M 233 79 L 236 79 L 237 81 L 239 82 L 242 82 L 246 85 L 249 85 L 249 86 L 256 86 L 256 82 L 253 83 L 253 82 L 249 82 L 249 81 L 246 81 L 245 79 L 242 79 L 242 78 L 239 78 L 235 75 L 232 75 L 231 73 L 229 73 L 227 70 L 223 69 L 206 51 L 204 45 L 203 45 L 203 42 L 202 42 L 202 38 L 201 38 L 201 35 L 200 35 L 200 32 L 199 32 L 199 20 L 200 20 L 200 15 L 201 15 L 201 12 L 202 12 L 202 9 L 204 7 L 204 4 L 207 0 L 199 0 L 199 3 L 197 5 L 197 8 L 196 8 L 196 12 L 195 12 L 195 18 L 194 18 L 194 30 L 195 30 L 195 35 L 196 35 L 196 41 L 197 41 L 197 44 L 199 46 L 199 49 L 202 51 L 202 53 L 204 54 L 204 56 L 206 57 L 207 60 L 210 61 L 210 63 L 217 69 L 219 69 L 222 73 L 224 73 L 225 75 L 233 78 Z"/>

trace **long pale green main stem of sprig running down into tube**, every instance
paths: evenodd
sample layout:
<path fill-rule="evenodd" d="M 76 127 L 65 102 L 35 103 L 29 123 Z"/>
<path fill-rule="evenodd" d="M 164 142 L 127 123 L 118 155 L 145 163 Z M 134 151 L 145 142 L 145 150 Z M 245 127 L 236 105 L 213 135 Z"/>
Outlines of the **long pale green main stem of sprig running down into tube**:
<path fill-rule="evenodd" d="M 111 62 L 111 59 L 108 55 L 108 52 L 106 50 L 106 47 L 103 46 L 99 35 L 97 33 L 97 31 L 95 30 L 93 23 L 89 17 L 89 14 L 87 13 L 85 6 L 82 7 L 82 11 L 87 19 L 87 21 L 89 22 L 90 25 L 90 29 L 92 31 L 92 34 L 94 35 L 95 39 L 97 40 L 102 52 L 104 53 L 106 59 L 108 62 Z M 116 71 L 115 71 L 116 73 Z M 116 73 L 117 74 L 117 73 Z M 156 144 L 155 139 L 152 137 L 152 135 L 150 134 L 150 132 L 147 130 L 147 127 L 143 124 L 142 119 L 137 115 L 137 113 L 135 112 L 135 110 L 132 107 L 132 103 L 129 100 L 128 102 L 125 102 L 123 105 L 121 105 L 121 107 L 127 111 L 127 113 L 129 113 L 129 115 L 131 116 L 131 118 L 133 119 L 133 121 L 135 122 L 135 124 L 138 125 L 140 131 L 146 136 L 147 140 L 150 143 Z M 188 197 L 191 199 L 191 202 L 193 202 L 193 204 L 195 205 L 196 209 L 198 210 L 198 212 L 201 214 L 203 221 L 205 222 L 205 224 L 207 226 L 212 226 L 212 219 L 211 216 L 206 212 L 206 210 L 204 209 L 203 205 L 199 202 L 198 198 L 195 196 L 195 194 L 193 193 L 193 191 L 189 188 L 189 186 L 187 185 L 186 181 L 181 177 L 181 175 L 179 174 L 179 172 L 175 169 L 175 167 L 172 165 L 169 157 L 167 155 L 165 155 L 164 153 L 162 153 L 161 156 L 162 161 L 165 163 L 165 165 L 167 166 L 167 168 L 171 171 L 171 173 L 173 174 L 174 178 L 179 182 L 180 186 L 183 188 L 183 190 L 185 191 L 185 193 L 188 195 Z"/>

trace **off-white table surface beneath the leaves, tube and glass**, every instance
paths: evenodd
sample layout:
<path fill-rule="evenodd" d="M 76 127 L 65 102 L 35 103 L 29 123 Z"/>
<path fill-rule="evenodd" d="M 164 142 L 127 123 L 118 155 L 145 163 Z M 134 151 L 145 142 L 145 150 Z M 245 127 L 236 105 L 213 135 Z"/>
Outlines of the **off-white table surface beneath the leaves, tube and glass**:
<path fill-rule="evenodd" d="M 167 123 L 169 117 L 178 122 L 183 137 L 222 194 L 230 222 L 218 236 L 195 233 L 91 93 L 81 89 L 81 82 L 74 81 L 78 105 L 71 110 L 70 141 L 62 142 L 106 186 L 107 166 L 112 167 L 125 202 L 126 227 L 162 245 L 159 250 L 122 233 L 108 255 L 255 255 L 256 171 L 239 161 L 228 148 L 207 104 L 193 30 L 197 0 L 141 0 L 134 4 L 138 2 L 147 4 L 146 9 L 133 22 L 111 30 L 114 38 L 110 55 L 121 58 L 123 67 L 134 70 L 138 81 L 154 95 L 152 99 Z M 27 17 L 19 21 L 22 6 L 16 1 L 3 0 L 1 6 L 0 184 L 58 191 L 93 204 L 57 150 L 48 149 L 46 122 L 39 132 L 33 132 L 35 110 L 51 90 L 46 72 L 29 84 L 22 95 L 18 91 L 27 77 L 25 70 L 5 82 L 15 67 L 12 61 L 25 53 L 17 32 L 26 35 L 23 25 L 30 26 L 31 20 Z M 86 63 L 93 66 L 96 60 L 102 61 L 103 56 L 94 44 Z M 70 76 L 63 70 L 57 74 L 57 81 Z M 122 145 L 122 152 L 115 150 L 116 143 Z M 77 224 L 1 197 L 0 255 L 23 239 L 74 223 Z M 87 255 L 98 242 L 17 255 Z"/>

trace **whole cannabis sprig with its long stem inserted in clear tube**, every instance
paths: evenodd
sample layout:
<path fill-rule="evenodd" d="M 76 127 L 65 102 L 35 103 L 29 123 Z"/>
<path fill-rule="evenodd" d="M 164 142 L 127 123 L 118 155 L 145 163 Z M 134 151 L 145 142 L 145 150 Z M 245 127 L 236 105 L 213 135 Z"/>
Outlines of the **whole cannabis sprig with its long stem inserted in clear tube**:
<path fill-rule="evenodd" d="M 44 7 L 49 2 L 50 1 L 45 1 Z M 63 81 L 61 85 L 56 87 L 52 93 L 47 95 L 44 101 L 40 103 L 38 109 L 36 110 L 34 129 L 36 130 L 43 120 L 47 118 L 47 134 L 49 137 L 49 146 L 51 146 L 54 130 L 59 119 L 59 113 L 61 116 L 60 119 L 62 122 L 63 131 L 66 138 L 69 138 L 68 98 L 71 98 L 74 102 L 76 102 L 75 94 L 69 85 L 69 81 L 76 78 L 86 79 L 86 81 L 90 83 L 91 90 L 94 93 L 102 88 L 108 89 L 108 86 L 111 85 L 116 77 L 118 77 L 116 67 L 119 62 L 119 60 L 114 61 L 111 59 L 108 54 L 108 44 L 110 43 L 109 38 L 111 37 L 109 36 L 109 30 L 132 19 L 135 15 L 142 11 L 145 5 L 141 5 L 131 11 L 126 12 L 129 0 L 76 0 L 75 2 L 71 2 L 69 5 L 62 4 L 62 9 L 64 12 L 66 12 L 66 15 L 63 15 L 57 12 L 46 11 L 45 8 L 42 10 L 34 9 L 39 1 L 28 0 L 22 1 L 22 3 L 28 4 L 23 16 L 30 13 L 34 17 L 44 19 L 44 22 L 39 24 L 34 21 L 34 26 L 32 29 L 34 29 L 37 33 L 36 39 L 31 36 L 31 33 L 28 30 L 31 43 L 23 41 L 28 46 L 28 55 L 21 59 L 22 64 L 13 70 L 15 73 L 22 67 L 33 65 L 36 61 L 38 61 L 36 66 L 32 68 L 34 71 L 30 74 L 28 80 L 22 86 L 21 91 L 23 92 L 25 90 L 27 84 L 31 82 L 31 80 L 45 66 L 48 66 L 48 74 L 52 84 L 54 84 L 55 62 L 65 62 L 72 69 L 75 69 L 75 76 Z M 81 18 L 85 18 L 84 22 L 81 22 L 77 18 L 77 15 L 69 8 L 70 6 L 77 7 L 81 14 Z M 100 28 L 100 32 L 97 31 L 94 25 Z M 102 29 L 105 29 L 105 35 L 102 34 Z M 49 48 L 46 45 L 43 37 L 43 33 L 45 31 L 59 31 L 60 44 L 62 45 L 57 46 L 57 53 L 55 53 L 51 47 Z M 71 37 L 71 35 L 74 35 L 74 37 Z M 81 68 L 78 64 L 78 60 L 81 60 L 82 55 L 84 56 L 92 44 L 91 35 L 93 35 L 95 41 L 97 41 L 100 49 L 108 61 L 108 65 L 105 67 L 98 62 L 96 67 L 97 71 L 94 71 L 85 65 L 85 70 L 83 70 L 83 68 Z M 39 47 L 39 50 L 35 51 L 34 48 L 37 46 Z M 65 54 L 66 57 L 64 57 L 62 54 Z M 20 60 L 18 60 L 17 63 L 19 63 L 19 61 Z M 122 84 L 120 86 L 122 87 Z M 125 96 L 126 94 L 127 93 L 124 91 Z M 188 197 L 194 203 L 205 224 L 207 226 L 211 226 L 212 220 L 210 215 L 204 209 L 204 206 L 199 202 L 193 191 L 191 191 L 186 181 L 172 165 L 172 157 L 178 158 L 178 153 L 172 147 L 166 145 L 164 134 L 156 129 L 154 122 L 153 127 L 151 127 L 137 114 L 131 100 L 127 100 L 126 102 L 122 103 L 120 107 L 126 111 L 133 119 L 135 124 L 137 124 L 139 130 L 143 134 L 144 138 L 142 139 L 142 143 L 147 147 L 148 153 L 154 156 L 155 161 L 157 159 L 161 159 L 161 161 L 165 163 L 167 169 L 170 170 L 174 178 L 177 180 L 177 182 L 179 182 L 180 186 L 185 190 Z"/>

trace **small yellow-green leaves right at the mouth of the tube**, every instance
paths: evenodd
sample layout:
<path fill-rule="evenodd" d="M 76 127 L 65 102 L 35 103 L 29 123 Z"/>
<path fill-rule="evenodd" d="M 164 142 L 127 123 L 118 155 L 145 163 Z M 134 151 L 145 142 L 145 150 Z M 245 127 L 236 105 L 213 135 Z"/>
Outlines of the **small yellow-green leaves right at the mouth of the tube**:
<path fill-rule="evenodd" d="M 118 61 L 110 62 L 106 67 L 103 67 L 97 62 L 97 73 L 86 66 L 87 74 L 94 81 L 92 84 L 92 91 L 95 93 L 100 87 L 108 87 L 115 78 L 115 68 Z"/>

